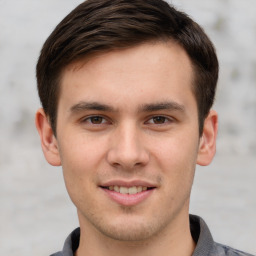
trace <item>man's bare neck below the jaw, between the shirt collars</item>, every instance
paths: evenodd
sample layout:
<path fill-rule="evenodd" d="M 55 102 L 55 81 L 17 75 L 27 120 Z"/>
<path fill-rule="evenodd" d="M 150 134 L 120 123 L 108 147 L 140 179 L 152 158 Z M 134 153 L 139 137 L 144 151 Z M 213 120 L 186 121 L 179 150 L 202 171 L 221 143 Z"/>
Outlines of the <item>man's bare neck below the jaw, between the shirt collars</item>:
<path fill-rule="evenodd" d="M 143 241 L 118 241 L 106 237 L 81 225 L 80 244 L 75 256 L 190 256 L 195 249 L 195 243 L 191 237 L 189 217 L 175 220 L 175 225 L 166 227 L 161 234 Z"/>

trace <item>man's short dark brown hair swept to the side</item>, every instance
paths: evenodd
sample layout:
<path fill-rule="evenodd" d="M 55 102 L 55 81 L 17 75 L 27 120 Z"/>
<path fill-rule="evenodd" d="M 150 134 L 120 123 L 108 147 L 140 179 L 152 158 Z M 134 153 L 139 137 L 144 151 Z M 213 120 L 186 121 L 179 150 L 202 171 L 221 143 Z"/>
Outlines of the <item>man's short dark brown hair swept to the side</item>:
<path fill-rule="evenodd" d="M 38 93 L 56 135 L 60 78 L 70 63 L 149 41 L 173 40 L 194 69 L 199 133 L 214 102 L 218 60 L 203 29 L 163 0 L 87 0 L 68 14 L 43 45 L 36 75 Z"/>

